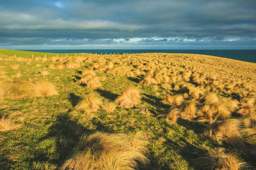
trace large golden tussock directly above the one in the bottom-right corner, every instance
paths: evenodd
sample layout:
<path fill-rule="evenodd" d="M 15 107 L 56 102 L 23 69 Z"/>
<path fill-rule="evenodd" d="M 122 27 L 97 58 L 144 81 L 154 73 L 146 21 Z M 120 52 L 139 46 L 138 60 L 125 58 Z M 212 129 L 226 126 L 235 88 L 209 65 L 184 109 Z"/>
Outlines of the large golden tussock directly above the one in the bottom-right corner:
<path fill-rule="evenodd" d="M 215 122 L 211 124 L 210 129 L 205 132 L 218 143 L 229 143 L 234 146 L 243 145 L 240 140 L 241 122 L 237 119 L 228 119 L 224 122 Z"/>

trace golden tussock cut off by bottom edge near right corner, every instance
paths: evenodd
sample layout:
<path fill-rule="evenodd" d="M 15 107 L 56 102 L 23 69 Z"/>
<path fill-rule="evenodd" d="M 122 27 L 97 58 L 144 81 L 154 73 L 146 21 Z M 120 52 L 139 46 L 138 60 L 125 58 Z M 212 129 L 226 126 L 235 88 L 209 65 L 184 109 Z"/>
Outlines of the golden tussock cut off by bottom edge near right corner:
<path fill-rule="evenodd" d="M 246 166 L 246 162 L 241 160 L 237 153 L 225 153 L 223 148 L 211 151 L 209 157 L 195 159 L 196 164 L 202 169 L 232 169 L 238 170 Z"/>

